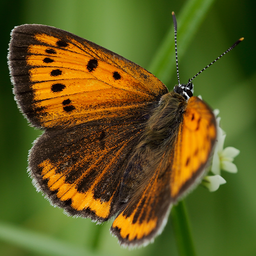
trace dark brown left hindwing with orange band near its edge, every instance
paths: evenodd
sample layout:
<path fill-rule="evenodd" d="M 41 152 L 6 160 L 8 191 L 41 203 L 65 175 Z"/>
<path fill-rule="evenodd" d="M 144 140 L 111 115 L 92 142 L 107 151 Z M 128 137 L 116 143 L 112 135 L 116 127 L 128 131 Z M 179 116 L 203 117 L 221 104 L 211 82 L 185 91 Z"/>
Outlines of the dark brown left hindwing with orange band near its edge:
<path fill-rule="evenodd" d="M 95 121 L 46 131 L 29 155 L 37 189 L 69 215 L 105 221 L 118 211 L 124 167 L 144 121 Z"/>

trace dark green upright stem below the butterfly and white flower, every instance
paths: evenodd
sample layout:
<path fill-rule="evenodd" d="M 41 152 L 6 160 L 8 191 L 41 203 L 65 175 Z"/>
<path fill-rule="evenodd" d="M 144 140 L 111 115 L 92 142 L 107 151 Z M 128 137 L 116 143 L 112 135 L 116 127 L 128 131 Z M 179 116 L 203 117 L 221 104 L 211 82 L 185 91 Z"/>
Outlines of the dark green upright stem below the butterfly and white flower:
<path fill-rule="evenodd" d="M 172 226 L 180 256 L 196 256 L 185 202 L 172 207 Z"/>

